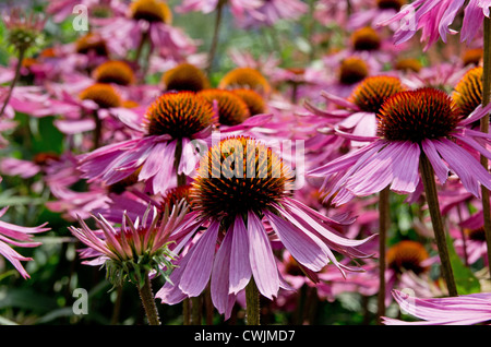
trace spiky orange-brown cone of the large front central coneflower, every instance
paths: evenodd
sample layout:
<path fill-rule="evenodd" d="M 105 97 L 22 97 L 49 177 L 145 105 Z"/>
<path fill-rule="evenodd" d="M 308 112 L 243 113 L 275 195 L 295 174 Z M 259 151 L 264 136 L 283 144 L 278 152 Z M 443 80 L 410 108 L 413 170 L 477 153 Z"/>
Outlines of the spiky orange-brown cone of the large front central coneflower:
<path fill-rule="evenodd" d="M 285 196 L 290 180 L 272 148 L 251 137 L 229 137 L 203 157 L 191 199 L 204 215 L 260 213 Z"/>

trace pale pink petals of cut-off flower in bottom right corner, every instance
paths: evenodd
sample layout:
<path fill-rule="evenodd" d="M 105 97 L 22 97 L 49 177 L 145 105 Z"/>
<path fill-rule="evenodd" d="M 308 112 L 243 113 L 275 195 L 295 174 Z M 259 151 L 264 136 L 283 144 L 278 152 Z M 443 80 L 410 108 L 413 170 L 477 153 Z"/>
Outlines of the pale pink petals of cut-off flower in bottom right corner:
<path fill-rule="evenodd" d="M 417 298 L 393 290 L 399 307 L 422 321 L 405 322 L 384 316 L 386 325 L 472 325 L 489 324 L 491 320 L 491 295 L 469 294 L 448 298 Z"/>

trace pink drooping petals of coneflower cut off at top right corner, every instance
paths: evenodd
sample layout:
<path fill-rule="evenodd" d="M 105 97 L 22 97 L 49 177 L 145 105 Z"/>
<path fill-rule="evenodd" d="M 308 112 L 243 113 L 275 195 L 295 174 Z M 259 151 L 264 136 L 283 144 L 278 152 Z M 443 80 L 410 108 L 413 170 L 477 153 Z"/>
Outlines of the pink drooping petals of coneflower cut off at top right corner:
<path fill-rule="evenodd" d="M 422 29 L 421 41 L 427 41 L 428 49 L 441 37 L 446 43 L 448 34 L 457 31 L 450 28 L 457 14 L 464 10 L 460 41 L 471 41 L 478 34 L 484 16 L 489 17 L 491 2 L 488 0 L 471 0 L 467 4 L 464 0 L 416 0 L 404 7 L 392 19 L 379 25 L 400 22 L 400 27 L 394 34 L 396 45 L 410 39 L 417 31 Z"/>

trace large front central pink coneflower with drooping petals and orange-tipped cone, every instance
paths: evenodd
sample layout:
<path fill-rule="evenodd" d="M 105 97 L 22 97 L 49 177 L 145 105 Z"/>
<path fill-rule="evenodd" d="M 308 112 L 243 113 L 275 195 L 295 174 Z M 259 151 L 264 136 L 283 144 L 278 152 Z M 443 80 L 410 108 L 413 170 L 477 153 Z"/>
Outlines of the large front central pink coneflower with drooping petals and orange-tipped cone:
<path fill-rule="evenodd" d="M 328 262 L 340 272 L 358 271 L 338 262 L 332 250 L 363 258 L 357 248 L 369 238 L 340 236 L 338 229 L 352 220 L 325 217 L 289 198 L 291 179 L 282 159 L 256 140 L 228 137 L 213 146 L 190 192 L 193 224 L 206 229 L 178 260 L 172 284 L 157 297 L 173 304 L 199 296 L 209 282 L 214 306 L 227 319 L 236 295 L 254 283 L 261 295 L 276 297 L 279 288 L 289 286 L 278 274 L 271 239 L 279 240 L 308 271 L 320 271 Z"/>

